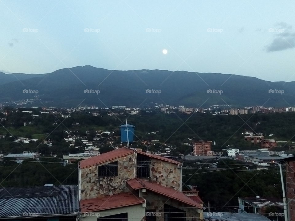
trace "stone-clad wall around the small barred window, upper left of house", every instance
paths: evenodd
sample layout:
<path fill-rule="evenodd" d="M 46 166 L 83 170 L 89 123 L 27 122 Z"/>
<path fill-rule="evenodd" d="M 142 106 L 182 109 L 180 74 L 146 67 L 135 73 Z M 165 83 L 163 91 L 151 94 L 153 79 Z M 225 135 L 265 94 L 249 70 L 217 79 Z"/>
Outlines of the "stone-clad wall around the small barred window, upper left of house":
<path fill-rule="evenodd" d="M 98 177 L 98 167 L 118 161 L 118 176 Z M 81 200 L 101 198 L 126 191 L 125 180 L 134 177 L 134 154 L 119 157 L 101 165 L 81 169 Z"/>

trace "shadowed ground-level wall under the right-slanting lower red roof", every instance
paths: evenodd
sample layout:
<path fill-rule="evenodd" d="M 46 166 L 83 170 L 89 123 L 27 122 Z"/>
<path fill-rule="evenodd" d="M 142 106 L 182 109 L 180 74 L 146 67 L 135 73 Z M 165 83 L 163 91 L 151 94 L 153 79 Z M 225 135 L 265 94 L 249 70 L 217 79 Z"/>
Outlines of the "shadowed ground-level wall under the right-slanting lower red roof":
<path fill-rule="evenodd" d="M 164 221 L 164 204 L 168 204 L 173 207 L 180 208 L 183 211 L 186 211 L 186 220 L 187 221 L 197 221 L 203 219 L 203 210 L 199 208 L 192 208 L 193 206 L 184 204 L 174 199 L 170 199 L 167 196 L 162 196 L 160 194 L 155 194 L 147 190 L 143 193 L 144 199 L 146 199 L 146 209 L 147 210 L 156 210 L 157 221 Z M 145 221 L 146 219 L 143 219 Z"/>

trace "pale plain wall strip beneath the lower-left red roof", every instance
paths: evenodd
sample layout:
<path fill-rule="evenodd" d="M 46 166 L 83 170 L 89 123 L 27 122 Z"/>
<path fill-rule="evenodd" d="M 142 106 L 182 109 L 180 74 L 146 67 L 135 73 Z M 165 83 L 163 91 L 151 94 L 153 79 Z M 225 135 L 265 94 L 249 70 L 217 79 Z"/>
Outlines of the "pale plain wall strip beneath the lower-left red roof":
<path fill-rule="evenodd" d="M 109 209 L 100 212 L 82 213 L 80 221 L 97 221 L 97 218 L 103 218 L 104 216 L 116 215 L 120 213 L 128 213 L 128 221 L 141 221 L 145 216 L 145 207 L 142 204 L 118 208 Z"/>

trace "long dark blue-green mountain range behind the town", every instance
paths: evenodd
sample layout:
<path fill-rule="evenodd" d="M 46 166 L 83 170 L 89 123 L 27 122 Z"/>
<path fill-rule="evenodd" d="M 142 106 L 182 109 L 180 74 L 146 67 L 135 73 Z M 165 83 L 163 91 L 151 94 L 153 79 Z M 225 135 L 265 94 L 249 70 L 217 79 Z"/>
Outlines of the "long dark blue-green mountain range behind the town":
<path fill-rule="evenodd" d="M 147 107 L 151 102 L 186 107 L 294 107 L 294 88 L 295 82 L 186 71 L 77 66 L 45 74 L 0 72 L 1 103 L 39 99 L 58 107 Z"/>

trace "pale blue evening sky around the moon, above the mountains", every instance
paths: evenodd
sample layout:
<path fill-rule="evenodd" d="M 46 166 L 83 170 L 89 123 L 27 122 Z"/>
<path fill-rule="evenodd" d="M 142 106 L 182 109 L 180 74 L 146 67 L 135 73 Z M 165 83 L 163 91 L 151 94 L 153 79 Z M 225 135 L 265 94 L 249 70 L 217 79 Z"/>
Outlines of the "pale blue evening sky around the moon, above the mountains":
<path fill-rule="evenodd" d="M 0 10 L 5 73 L 92 65 L 295 81 L 293 1 L 0 0 Z"/>

